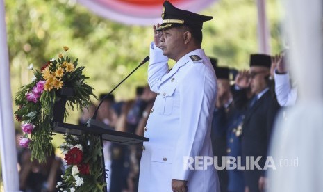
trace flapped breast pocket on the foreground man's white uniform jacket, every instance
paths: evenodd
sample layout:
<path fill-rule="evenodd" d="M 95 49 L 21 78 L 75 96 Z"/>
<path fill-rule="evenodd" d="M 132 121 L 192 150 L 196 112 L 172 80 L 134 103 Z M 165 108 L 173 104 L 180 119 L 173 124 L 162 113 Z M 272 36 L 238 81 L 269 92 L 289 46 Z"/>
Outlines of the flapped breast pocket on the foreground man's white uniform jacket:
<path fill-rule="evenodd" d="M 170 115 L 172 114 L 173 111 L 173 106 L 174 106 L 174 92 L 175 88 L 174 87 L 168 87 L 163 90 L 160 95 L 161 95 L 161 106 L 160 106 L 160 115 Z"/>

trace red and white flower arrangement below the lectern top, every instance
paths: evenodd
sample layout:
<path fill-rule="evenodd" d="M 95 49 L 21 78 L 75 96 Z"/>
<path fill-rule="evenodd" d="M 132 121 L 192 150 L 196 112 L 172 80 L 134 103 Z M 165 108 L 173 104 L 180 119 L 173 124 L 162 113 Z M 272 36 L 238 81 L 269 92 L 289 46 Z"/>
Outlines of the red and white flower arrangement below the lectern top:
<path fill-rule="evenodd" d="M 60 146 L 69 168 L 62 175 L 63 181 L 56 188 L 60 191 L 103 191 L 106 185 L 102 166 L 100 137 L 82 134 L 78 138 L 66 135 Z"/>

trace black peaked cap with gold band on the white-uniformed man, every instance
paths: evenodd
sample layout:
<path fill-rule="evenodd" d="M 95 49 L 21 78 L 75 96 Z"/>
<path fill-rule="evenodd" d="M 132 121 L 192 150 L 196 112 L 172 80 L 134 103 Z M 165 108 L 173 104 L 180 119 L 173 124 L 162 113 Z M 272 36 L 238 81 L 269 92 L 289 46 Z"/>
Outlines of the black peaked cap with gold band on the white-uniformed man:
<path fill-rule="evenodd" d="M 203 22 L 213 19 L 213 17 L 199 15 L 188 10 L 181 10 L 165 1 L 162 13 L 163 23 L 156 29 L 157 31 L 168 29 L 174 26 L 186 25 L 194 30 L 201 30 Z"/>

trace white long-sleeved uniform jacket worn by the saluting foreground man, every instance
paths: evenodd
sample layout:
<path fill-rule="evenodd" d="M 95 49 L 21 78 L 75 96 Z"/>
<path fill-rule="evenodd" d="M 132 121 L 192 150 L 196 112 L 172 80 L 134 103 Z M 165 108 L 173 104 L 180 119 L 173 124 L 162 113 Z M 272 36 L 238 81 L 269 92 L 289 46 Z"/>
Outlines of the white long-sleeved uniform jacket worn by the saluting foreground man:
<path fill-rule="evenodd" d="M 144 131 L 150 140 L 143 144 L 139 191 L 172 191 L 172 179 L 188 181 L 188 191 L 220 191 L 214 164 L 204 170 L 203 160 L 195 161 L 213 158 L 210 127 L 217 82 L 210 59 L 197 49 L 170 71 L 167 61 L 151 43 L 148 83 L 158 95 Z M 194 170 L 187 166 L 189 157 Z"/>

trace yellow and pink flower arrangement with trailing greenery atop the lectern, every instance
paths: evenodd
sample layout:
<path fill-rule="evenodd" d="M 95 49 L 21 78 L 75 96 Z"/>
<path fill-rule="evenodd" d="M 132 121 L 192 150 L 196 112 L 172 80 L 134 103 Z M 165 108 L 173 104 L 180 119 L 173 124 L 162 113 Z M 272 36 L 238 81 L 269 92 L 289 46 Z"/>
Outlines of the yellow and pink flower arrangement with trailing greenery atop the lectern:
<path fill-rule="evenodd" d="M 28 69 L 34 73 L 31 83 L 22 86 L 16 94 L 15 104 L 19 106 L 15 111 L 16 119 L 22 124 L 24 138 L 19 145 L 31 149 L 31 159 L 46 161 L 47 154 L 51 153 L 53 109 L 61 101 L 63 88 L 72 88 L 73 94 L 65 97 L 69 109 L 82 109 L 90 105 L 90 96 L 93 88 L 85 83 L 83 69 L 78 67 L 78 59 L 73 63 L 66 56 L 69 47 L 64 46 L 64 55 L 59 54 L 57 60 L 52 58 L 41 70 L 34 70 L 33 64 Z M 68 115 L 63 106 L 64 115 Z"/>

